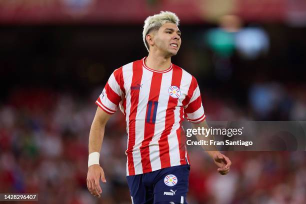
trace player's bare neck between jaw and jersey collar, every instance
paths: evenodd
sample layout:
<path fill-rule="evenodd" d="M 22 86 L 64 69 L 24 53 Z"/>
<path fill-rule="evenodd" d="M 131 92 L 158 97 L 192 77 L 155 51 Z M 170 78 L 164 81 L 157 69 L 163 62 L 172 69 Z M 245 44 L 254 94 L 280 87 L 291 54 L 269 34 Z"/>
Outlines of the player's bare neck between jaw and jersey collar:
<path fill-rule="evenodd" d="M 160 56 L 149 52 L 145 59 L 145 64 L 151 69 L 163 71 L 170 67 L 171 57 Z"/>

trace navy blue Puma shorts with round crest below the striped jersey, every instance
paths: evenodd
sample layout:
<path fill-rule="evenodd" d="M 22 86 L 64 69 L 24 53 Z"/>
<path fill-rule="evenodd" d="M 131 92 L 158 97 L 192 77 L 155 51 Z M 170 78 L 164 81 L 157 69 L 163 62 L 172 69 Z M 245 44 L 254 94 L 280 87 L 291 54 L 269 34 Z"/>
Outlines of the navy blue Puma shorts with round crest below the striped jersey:
<path fill-rule="evenodd" d="M 126 176 L 133 204 L 186 202 L 190 165 Z"/>

